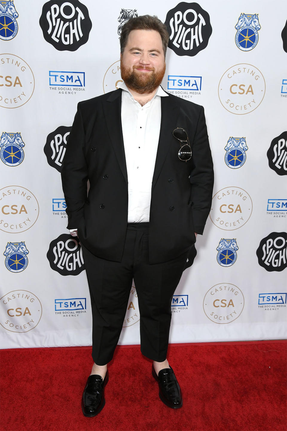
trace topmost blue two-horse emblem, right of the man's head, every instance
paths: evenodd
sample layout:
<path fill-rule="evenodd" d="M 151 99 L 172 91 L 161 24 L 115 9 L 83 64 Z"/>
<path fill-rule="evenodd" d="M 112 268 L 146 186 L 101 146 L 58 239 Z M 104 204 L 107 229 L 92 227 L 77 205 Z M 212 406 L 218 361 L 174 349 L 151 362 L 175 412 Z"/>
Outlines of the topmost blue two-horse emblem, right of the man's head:
<path fill-rule="evenodd" d="M 235 42 L 238 48 L 242 51 L 253 50 L 257 45 L 258 31 L 261 28 L 258 20 L 258 13 L 254 15 L 241 13 L 235 28 L 237 30 Z"/>

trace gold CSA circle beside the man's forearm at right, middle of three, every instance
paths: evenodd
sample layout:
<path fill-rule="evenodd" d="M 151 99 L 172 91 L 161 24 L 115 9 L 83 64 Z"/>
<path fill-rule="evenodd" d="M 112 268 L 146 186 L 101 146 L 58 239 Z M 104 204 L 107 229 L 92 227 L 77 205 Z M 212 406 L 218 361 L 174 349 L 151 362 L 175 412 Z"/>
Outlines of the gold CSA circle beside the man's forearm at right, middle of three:
<path fill-rule="evenodd" d="M 252 200 L 240 187 L 225 187 L 212 198 L 210 219 L 224 231 L 234 231 L 248 222 L 252 212 Z"/>

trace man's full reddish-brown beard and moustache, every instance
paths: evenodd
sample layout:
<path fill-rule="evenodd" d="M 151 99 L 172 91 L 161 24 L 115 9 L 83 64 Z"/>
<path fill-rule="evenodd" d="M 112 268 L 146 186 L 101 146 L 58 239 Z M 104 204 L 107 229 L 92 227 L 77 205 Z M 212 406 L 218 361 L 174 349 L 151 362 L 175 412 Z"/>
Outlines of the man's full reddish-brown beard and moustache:
<path fill-rule="evenodd" d="M 152 93 L 161 83 L 164 78 L 165 64 L 164 67 L 157 72 L 154 71 L 152 67 L 146 67 L 146 70 L 151 70 L 151 73 L 139 72 L 136 67 L 133 69 L 123 65 L 122 59 L 120 60 L 120 75 L 124 83 L 131 90 L 136 91 L 139 94 L 149 94 Z"/>

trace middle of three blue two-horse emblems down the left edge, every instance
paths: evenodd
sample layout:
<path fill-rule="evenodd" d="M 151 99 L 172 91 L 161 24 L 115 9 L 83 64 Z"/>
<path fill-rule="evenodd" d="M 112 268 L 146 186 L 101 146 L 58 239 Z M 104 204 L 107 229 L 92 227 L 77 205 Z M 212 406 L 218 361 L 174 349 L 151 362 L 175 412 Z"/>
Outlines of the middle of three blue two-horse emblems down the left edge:
<path fill-rule="evenodd" d="M 0 157 L 7 166 L 18 166 L 24 159 L 25 147 L 20 133 L 3 132 L 0 138 Z"/>

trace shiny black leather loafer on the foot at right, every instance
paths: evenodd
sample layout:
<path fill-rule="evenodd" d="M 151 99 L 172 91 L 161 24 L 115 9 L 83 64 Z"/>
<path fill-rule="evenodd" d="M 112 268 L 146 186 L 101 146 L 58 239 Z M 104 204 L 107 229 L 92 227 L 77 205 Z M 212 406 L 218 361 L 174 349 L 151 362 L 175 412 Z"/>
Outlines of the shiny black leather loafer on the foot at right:
<path fill-rule="evenodd" d="M 154 365 L 152 365 L 152 375 L 157 381 L 160 389 L 160 400 L 172 409 L 179 409 L 182 407 L 182 394 L 173 369 L 171 367 L 164 368 L 163 370 L 160 370 L 157 376 L 157 373 L 154 370 Z"/>

